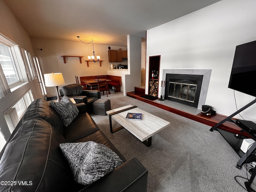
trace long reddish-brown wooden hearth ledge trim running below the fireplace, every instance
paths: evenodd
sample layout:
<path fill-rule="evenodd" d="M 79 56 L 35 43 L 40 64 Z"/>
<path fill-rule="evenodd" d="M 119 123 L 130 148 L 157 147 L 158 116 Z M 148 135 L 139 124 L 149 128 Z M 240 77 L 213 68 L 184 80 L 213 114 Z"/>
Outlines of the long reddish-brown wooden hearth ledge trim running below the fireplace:
<path fill-rule="evenodd" d="M 203 123 L 203 124 L 206 124 L 208 126 L 214 126 L 216 125 L 218 122 L 220 122 L 221 120 L 225 119 L 227 116 L 224 116 L 224 115 L 221 115 L 221 114 L 216 114 L 214 116 L 203 116 L 201 115 L 201 113 L 199 114 L 190 114 L 188 112 L 184 112 L 182 110 L 178 110 L 176 108 L 172 108 L 170 106 L 166 106 L 164 104 L 160 104 L 158 102 L 154 102 L 152 100 L 148 100 L 148 99 L 145 99 L 145 98 L 142 98 L 140 97 L 139 95 L 136 95 L 133 92 L 127 92 L 126 93 L 127 96 L 129 97 L 132 97 L 132 98 L 135 98 L 135 99 L 138 99 L 140 101 L 143 101 L 143 102 L 146 102 L 148 104 L 151 104 L 151 105 L 154 105 L 156 107 L 159 107 L 161 109 L 164 109 L 164 110 L 167 110 L 169 112 L 172 112 L 172 113 L 175 113 L 175 114 L 178 114 L 180 116 L 183 116 L 183 117 L 186 117 L 186 118 L 189 118 L 189 119 L 192 119 L 192 120 L 195 120 L 197 122 L 200 122 L 200 123 Z M 232 123 L 232 122 L 224 122 L 222 125 L 220 125 L 218 128 L 220 129 L 223 129 L 223 130 L 226 130 L 226 131 L 229 131 L 229 132 L 233 132 L 234 134 L 240 134 L 240 130 L 241 128 L 238 127 L 236 124 Z M 246 135 L 245 133 L 243 134 L 244 136 L 248 136 Z M 250 137 L 250 136 L 248 136 Z"/>

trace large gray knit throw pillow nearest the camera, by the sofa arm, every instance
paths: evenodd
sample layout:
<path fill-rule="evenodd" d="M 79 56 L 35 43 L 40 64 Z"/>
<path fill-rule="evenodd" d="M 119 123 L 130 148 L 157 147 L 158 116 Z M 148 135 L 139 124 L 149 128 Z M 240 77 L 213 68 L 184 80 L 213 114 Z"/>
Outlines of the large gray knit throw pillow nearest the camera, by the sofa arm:
<path fill-rule="evenodd" d="M 62 143 L 60 149 L 68 160 L 74 180 L 90 185 L 123 162 L 110 148 L 94 141 Z"/>

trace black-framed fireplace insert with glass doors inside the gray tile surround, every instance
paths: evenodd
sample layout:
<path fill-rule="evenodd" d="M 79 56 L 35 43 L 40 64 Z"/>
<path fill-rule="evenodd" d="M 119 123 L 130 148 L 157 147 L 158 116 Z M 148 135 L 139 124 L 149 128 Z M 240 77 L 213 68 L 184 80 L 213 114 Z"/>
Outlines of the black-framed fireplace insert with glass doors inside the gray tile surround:
<path fill-rule="evenodd" d="M 164 98 L 197 108 L 203 75 L 166 74 Z"/>

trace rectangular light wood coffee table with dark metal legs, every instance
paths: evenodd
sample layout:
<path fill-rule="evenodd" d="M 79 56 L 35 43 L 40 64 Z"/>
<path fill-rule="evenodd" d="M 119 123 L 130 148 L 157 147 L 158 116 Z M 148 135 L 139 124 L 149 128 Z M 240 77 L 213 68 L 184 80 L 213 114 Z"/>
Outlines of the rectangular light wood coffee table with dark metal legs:
<path fill-rule="evenodd" d="M 142 113 L 142 119 L 127 120 L 125 119 L 125 117 L 128 112 Z M 137 106 L 132 106 L 132 105 L 126 105 L 120 108 L 109 110 L 106 113 L 109 116 L 111 133 L 116 132 L 122 128 L 125 128 L 147 146 L 151 146 L 152 136 L 154 134 L 158 133 L 160 130 L 170 125 L 170 122 L 163 120 L 157 116 L 154 116 L 144 110 L 141 110 Z M 122 126 L 113 130 L 112 119 L 114 119 L 116 122 L 118 122 Z"/>

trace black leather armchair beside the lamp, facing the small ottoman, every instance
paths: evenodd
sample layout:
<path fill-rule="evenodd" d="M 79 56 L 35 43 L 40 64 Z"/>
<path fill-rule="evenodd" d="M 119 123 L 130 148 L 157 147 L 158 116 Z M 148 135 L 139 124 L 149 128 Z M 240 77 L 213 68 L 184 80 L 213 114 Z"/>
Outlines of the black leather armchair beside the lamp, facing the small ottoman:
<path fill-rule="evenodd" d="M 76 103 L 85 103 L 89 114 L 93 113 L 92 103 L 100 99 L 100 91 L 83 90 L 82 85 L 79 83 L 63 86 L 60 88 L 60 95 L 74 98 Z"/>

